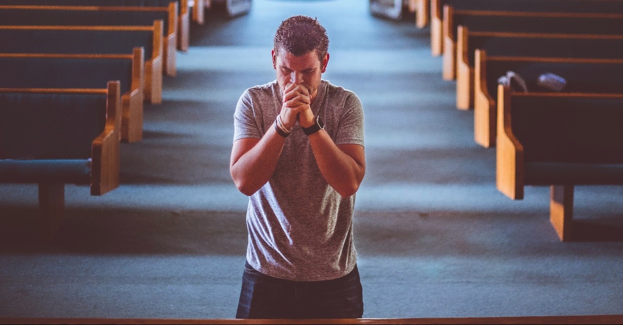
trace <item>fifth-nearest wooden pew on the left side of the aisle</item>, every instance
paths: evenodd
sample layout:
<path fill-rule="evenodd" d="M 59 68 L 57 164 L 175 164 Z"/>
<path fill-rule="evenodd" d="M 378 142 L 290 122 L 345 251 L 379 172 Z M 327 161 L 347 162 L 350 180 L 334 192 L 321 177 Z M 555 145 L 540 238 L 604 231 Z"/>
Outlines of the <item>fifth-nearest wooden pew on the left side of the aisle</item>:
<path fill-rule="evenodd" d="M 188 1 L 181 0 L 0 0 L 1 6 L 108 6 L 108 7 L 165 7 L 178 2 L 178 49 L 188 51 L 190 12 Z"/>

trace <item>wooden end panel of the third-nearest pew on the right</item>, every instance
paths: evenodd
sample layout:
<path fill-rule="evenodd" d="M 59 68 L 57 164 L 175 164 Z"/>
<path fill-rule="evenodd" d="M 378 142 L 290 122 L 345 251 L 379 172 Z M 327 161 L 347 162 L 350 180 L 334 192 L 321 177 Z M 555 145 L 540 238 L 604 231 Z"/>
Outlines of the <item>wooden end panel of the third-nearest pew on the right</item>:
<path fill-rule="evenodd" d="M 457 26 L 457 108 L 466 111 L 473 107 L 473 67 L 469 64 L 467 28 Z"/>

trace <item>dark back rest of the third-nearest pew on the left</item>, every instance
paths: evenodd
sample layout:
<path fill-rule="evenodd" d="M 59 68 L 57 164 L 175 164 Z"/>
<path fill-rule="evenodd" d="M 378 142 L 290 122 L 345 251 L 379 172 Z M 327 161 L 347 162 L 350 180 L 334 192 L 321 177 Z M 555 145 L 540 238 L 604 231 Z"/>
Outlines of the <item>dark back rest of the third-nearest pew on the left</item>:
<path fill-rule="evenodd" d="M 134 47 L 143 47 L 148 61 L 155 55 L 154 29 L 153 26 L 119 26 L 114 29 L 0 26 L 0 53 L 129 54 Z"/>

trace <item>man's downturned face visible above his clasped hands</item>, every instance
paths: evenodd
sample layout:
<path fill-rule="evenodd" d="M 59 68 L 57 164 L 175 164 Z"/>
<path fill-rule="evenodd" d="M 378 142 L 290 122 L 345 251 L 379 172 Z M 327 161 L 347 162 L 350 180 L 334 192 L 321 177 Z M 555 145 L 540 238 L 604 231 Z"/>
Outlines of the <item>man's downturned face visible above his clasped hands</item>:
<path fill-rule="evenodd" d="M 297 57 L 280 48 L 278 53 L 272 50 L 272 58 L 273 68 L 277 70 L 277 82 L 282 90 L 295 83 L 308 89 L 312 101 L 316 98 L 321 74 L 325 72 L 329 60 L 328 53 L 323 62 L 320 62 L 316 50 Z"/>

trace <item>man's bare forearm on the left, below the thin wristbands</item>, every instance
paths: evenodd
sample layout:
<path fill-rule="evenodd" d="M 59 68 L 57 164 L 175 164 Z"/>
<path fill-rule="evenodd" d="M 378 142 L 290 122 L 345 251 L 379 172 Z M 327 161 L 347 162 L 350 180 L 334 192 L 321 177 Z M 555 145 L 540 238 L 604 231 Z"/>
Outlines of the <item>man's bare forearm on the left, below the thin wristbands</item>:
<path fill-rule="evenodd" d="M 249 196 L 262 188 L 275 172 L 285 138 L 277 134 L 274 127 L 270 127 L 257 143 L 249 144 L 249 142 L 240 142 L 240 140 L 237 142 L 239 143 L 234 143 L 234 146 L 252 145 L 249 150 L 235 149 L 233 152 L 245 153 L 239 158 L 232 156 L 230 167 L 236 187 L 244 195 Z"/>

